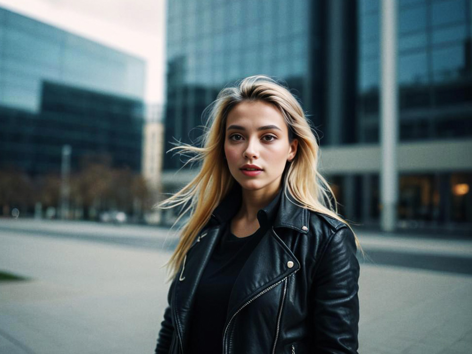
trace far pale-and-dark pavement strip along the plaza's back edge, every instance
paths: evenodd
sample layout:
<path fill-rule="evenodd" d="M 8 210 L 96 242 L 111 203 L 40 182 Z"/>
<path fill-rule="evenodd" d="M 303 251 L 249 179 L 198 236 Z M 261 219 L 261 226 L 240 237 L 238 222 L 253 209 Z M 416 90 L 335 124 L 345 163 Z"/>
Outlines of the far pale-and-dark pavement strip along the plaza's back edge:
<path fill-rule="evenodd" d="M 144 250 L 172 252 L 178 230 L 147 225 L 114 225 L 90 221 L 0 219 L 0 234 L 58 237 Z M 364 253 L 359 262 L 472 275 L 472 238 L 426 237 L 417 233 L 355 230 Z"/>

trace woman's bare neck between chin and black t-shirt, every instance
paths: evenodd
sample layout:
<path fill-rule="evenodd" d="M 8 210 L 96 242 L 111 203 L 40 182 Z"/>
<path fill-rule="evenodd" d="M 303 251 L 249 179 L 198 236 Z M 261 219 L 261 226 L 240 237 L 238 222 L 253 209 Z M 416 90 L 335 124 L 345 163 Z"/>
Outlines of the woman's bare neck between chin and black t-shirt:
<path fill-rule="evenodd" d="M 239 219 L 246 219 L 248 222 L 257 220 L 257 212 L 266 207 L 277 195 L 282 188 L 280 183 L 275 188 L 248 190 L 242 189 L 241 208 L 237 212 L 236 217 Z"/>

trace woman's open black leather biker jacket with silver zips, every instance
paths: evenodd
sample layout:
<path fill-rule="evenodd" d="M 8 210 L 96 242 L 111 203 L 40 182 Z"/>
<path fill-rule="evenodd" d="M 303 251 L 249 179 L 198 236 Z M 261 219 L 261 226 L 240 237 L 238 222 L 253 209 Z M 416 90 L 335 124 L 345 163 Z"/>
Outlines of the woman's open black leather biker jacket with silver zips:
<path fill-rule="evenodd" d="M 186 340 L 192 300 L 235 206 L 230 193 L 172 281 L 157 354 L 191 353 Z M 354 235 L 346 224 L 299 207 L 282 193 L 273 227 L 236 279 L 222 353 L 357 353 L 358 278 Z"/>

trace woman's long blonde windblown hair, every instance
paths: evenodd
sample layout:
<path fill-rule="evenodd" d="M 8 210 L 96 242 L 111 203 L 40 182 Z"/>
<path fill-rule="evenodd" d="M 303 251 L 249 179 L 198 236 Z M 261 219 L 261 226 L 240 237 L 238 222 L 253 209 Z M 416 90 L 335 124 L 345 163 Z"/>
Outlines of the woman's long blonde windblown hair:
<path fill-rule="evenodd" d="M 170 268 L 171 278 L 178 272 L 193 240 L 210 220 L 213 210 L 237 183 L 224 159 L 224 142 L 228 114 L 243 101 L 263 101 L 274 105 L 285 119 L 289 140 L 298 139 L 296 156 L 287 163 L 283 174 L 283 192 L 286 194 L 288 189 L 300 206 L 327 214 L 351 228 L 349 223 L 337 214 L 334 193 L 318 171 L 320 149 L 300 103 L 284 86 L 270 77 L 250 76 L 234 87 L 224 88 L 207 107 L 209 118 L 202 137 L 202 147 L 181 144 L 169 150 L 193 154 L 187 163 L 201 162 L 198 174 L 189 184 L 158 204 L 161 209 L 182 207 L 183 212 L 176 223 L 190 212 L 188 221 L 180 230 L 180 241 L 166 263 Z M 355 234 L 354 237 L 357 247 L 360 248 Z"/>

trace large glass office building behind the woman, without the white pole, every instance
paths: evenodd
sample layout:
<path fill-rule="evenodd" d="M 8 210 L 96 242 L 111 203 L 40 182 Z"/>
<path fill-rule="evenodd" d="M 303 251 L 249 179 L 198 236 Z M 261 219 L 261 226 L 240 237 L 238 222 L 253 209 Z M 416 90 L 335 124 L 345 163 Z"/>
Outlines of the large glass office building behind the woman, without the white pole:
<path fill-rule="evenodd" d="M 165 150 L 175 139 L 195 141 L 203 109 L 224 85 L 252 74 L 277 77 L 318 129 L 322 172 L 341 214 L 378 225 L 381 3 L 168 1 Z M 397 6 L 399 226 L 470 229 L 471 1 Z M 168 190 L 184 182 L 175 179 L 181 166 L 165 155 Z"/>

